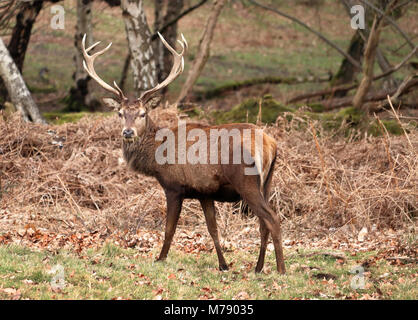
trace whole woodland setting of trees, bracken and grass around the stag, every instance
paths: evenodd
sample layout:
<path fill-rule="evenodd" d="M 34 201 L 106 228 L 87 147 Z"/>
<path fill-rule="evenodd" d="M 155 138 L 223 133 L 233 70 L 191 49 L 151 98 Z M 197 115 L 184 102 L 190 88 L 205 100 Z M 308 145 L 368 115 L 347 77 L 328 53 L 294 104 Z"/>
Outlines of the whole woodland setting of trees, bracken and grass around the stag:
<path fill-rule="evenodd" d="M 416 299 L 418 6 L 359 3 L 365 30 L 351 28 L 350 0 L 1 1 L 0 297 Z M 272 271 L 271 250 L 253 274 L 257 220 L 239 204 L 217 205 L 230 272 L 215 268 L 195 201 L 169 260 L 153 263 L 164 194 L 126 169 L 80 41 L 113 43 L 96 71 L 135 97 L 171 67 L 157 30 L 170 44 L 183 33 L 189 52 L 151 103 L 156 122 L 253 122 L 276 138 L 270 200 L 288 275 Z M 57 263 L 62 290 L 48 273 Z"/>

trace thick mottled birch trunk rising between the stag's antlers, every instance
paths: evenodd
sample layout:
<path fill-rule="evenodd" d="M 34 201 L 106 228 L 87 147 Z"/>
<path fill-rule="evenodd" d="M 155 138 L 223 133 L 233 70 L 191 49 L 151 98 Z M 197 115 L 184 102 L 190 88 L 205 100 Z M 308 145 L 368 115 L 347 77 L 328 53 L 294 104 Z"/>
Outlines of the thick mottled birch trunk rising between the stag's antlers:
<path fill-rule="evenodd" d="M 143 0 L 122 0 L 122 16 L 131 53 L 135 94 L 157 85 L 157 71 L 151 32 L 143 8 Z"/>

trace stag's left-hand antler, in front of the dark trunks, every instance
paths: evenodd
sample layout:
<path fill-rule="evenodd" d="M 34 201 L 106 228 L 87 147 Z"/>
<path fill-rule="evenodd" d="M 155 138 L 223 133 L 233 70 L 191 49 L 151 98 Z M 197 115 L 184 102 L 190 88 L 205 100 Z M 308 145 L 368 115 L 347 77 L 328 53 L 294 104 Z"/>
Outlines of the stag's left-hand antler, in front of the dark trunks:
<path fill-rule="evenodd" d="M 109 45 L 104 48 L 103 50 L 96 52 L 95 54 L 89 56 L 88 52 L 90 50 L 92 50 L 94 47 L 96 47 L 99 42 L 96 42 L 95 44 L 91 45 L 89 48 L 86 49 L 86 34 L 84 34 L 83 36 L 83 40 L 81 41 L 81 45 L 82 45 L 82 50 L 83 50 L 83 56 L 84 56 L 84 61 L 83 61 L 83 67 L 84 69 L 87 71 L 87 73 L 89 74 L 90 77 L 92 77 L 102 88 L 106 89 L 107 91 L 117 95 L 120 99 L 122 100 L 127 100 L 127 98 L 125 97 L 125 95 L 123 94 L 122 90 L 118 87 L 118 85 L 116 84 L 115 81 L 113 81 L 113 85 L 115 86 L 112 87 L 111 85 L 107 84 L 106 82 L 104 82 L 96 73 L 96 71 L 94 70 L 94 60 L 98 57 L 101 56 L 103 53 L 105 53 L 107 50 L 109 50 L 110 46 L 112 45 L 112 43 L 109 43 Z"/>

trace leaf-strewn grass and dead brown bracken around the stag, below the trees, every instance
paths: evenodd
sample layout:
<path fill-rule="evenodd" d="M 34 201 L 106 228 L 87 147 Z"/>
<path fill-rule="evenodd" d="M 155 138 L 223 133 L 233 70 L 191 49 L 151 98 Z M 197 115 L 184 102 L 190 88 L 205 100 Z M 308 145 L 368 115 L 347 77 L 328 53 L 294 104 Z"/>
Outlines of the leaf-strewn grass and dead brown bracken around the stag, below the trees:
<path fill-rule="evenodd" d="M 176 115 L 151 112 L 163 125 Z M 272 244 L 254 273 L 258 220 L 227 203 L 217 220 L 230 271 L 217 270 L 194 200 L 167 261 L 154 263 L 164 193 L 127 170 L 115 115 L 48 126 L 0 119 L 0 298 L 417 299 L 418 133 L 350 141 L 295 121 L 266 128 L 279 148 L 270 203 L 282 220 L 280 276 Z"/>

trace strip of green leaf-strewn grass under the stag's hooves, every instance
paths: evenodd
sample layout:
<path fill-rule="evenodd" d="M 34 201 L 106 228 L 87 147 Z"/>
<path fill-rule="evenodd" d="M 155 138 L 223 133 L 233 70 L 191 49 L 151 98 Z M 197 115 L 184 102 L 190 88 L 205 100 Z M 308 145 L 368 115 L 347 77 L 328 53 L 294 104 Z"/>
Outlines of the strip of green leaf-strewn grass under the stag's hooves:
<path fill-rule="evenodd" d="M 382 299 L 417 299 L 415 265 L 392 266 L 386 260 L 366 270 L 365 288 L 352 289 L 350 270 L 376 252 L 334 257 L 312 251 L 286 251 L 287 274 L 275 272 L 274 255 L 267 253 L 265 272 L 254 273 L 257 252 L 227 252 L 228 272 L 217 270 L 214 252 L 186 254 L 171 250 L 165 262 L 154 262 L 156 251 L 138 253 L 106 243 L 79 255 L 34 251 L 18 245 L 0 247 L 0 299 L 11 296 L 2 289 L 18 289 L 21 299 L 341 299 L 373 296 Z M 65 287 L 52 290 L 49 273 L 64 268 Z M 321 279 L 325 274 L 334 279 Z M 378 289 L 376 289 L 378 288 Z"/>

